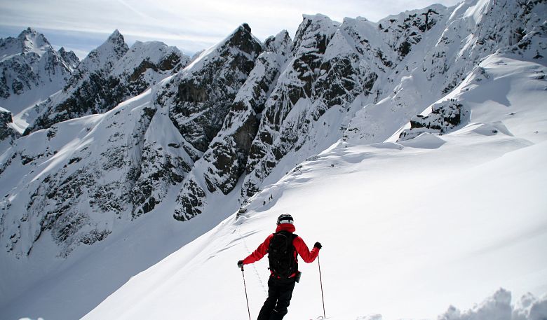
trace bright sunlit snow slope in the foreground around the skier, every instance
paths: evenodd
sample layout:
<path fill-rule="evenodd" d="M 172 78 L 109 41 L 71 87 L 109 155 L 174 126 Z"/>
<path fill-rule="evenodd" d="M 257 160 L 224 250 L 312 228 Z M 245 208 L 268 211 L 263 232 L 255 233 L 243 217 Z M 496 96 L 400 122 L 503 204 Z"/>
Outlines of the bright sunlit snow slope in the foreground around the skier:
<path fill-rule="evenodd" d="M 452 93 L 469 102 L 468 125 L 400 143 L 333 145 L 84 319 L 245 319 L 236 261 L 282 213 L 309 245 L 323 244 L 332 319 L 545 319 L 546 300 L 526 301 L 547 293 L 547 91 L 536 76 L 546 68 L 504 56 L 480 67 L 487 83 Z M 252 316 L 266 296 L 266 261 L 245 267 Z M 317 265 L 300 266 L 288 320 L 322 314 Z M 513 316 L 500 286 L 517 298 Z"/>

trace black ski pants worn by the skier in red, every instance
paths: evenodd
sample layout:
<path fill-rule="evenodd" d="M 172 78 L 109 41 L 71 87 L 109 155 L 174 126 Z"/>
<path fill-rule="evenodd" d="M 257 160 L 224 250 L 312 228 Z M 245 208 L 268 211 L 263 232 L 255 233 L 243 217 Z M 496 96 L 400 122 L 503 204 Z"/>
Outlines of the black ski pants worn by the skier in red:
<path fill-rule="evenodd" d="M 268 298 L 264 302 L 257 320 L 281 320 L 287 314 L 287 308 L 292 298 L 292 291 L 295 289 L 295 279 L 276 279 L 270 277 L 268 280 Z"/>

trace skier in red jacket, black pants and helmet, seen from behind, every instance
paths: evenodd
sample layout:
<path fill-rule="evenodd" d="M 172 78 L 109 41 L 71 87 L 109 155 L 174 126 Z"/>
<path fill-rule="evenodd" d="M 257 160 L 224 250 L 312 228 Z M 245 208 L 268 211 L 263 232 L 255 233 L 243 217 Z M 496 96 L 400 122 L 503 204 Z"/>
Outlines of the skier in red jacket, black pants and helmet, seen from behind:
<path fill-rule="evenodd" d="M 290 214 L 277 218 L 276 233 L 266 237 L 247 258 L 238 261 L 238 267 L 255 263 L 268 253 L 270 278 L 268 279 L 268 298 L 264 302 L 257 320 L 281 320 L 287 314 L 295 283 L 299 281 L 297 253 L 306 263 L 316 260 L 321 244 L 316 242 L 309 251 L 304 240 L 295 235 L 295 225 Z"/>

